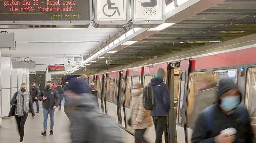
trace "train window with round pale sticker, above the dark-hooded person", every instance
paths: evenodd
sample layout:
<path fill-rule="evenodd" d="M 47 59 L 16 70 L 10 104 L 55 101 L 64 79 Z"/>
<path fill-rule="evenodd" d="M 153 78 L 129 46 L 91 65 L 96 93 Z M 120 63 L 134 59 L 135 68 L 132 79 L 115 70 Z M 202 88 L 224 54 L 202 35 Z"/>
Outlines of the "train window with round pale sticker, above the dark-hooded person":
<path fill-rule="evenodd" d="M 226 69 L 213 71 L 213 79 L 219 81 L 221 78 L 231 78 L 235 83 L 237 80 L 237 70 L 236 69 Z"/>

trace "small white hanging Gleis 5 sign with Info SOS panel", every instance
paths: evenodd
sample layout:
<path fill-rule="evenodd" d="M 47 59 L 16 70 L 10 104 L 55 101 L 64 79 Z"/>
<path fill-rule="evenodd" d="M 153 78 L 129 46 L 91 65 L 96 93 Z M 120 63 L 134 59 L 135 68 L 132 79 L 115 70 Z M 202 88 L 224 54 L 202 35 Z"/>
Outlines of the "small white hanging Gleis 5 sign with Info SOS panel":
<path fill-rule="evenodd" d="M 84 57 L 64 57 L 64 66 L 84 66 Z"/>

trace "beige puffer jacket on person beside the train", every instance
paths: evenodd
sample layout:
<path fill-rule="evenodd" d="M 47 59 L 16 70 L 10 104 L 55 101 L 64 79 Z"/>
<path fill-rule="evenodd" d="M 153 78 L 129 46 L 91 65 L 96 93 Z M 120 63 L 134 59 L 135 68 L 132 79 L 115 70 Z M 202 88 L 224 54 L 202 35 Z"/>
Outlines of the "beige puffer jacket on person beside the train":
<path fill-rule="evenodd" d="M 135 89 L 134 89 L 135 90 Z M 150 111 L 143 107 L 143 89 L 137 89 L 132 94 L 131 126 L 132 129 L 145 129 L 152 125 Z M 137 126 L 135 122 L 140 124 Z"/>

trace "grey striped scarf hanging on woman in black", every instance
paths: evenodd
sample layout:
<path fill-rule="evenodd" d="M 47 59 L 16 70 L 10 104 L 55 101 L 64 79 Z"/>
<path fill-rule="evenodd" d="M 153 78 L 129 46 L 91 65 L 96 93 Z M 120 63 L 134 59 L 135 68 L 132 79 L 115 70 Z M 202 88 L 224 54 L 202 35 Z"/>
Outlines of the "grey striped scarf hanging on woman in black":
<path fill-rule="evenodd" d="M 29 112 L 29 91 L 21 92 L 21 90 L 17 93 L 17 106 L 15 108 L 15 115 L 18 117 L 24 116 L 24 112 Z"/>

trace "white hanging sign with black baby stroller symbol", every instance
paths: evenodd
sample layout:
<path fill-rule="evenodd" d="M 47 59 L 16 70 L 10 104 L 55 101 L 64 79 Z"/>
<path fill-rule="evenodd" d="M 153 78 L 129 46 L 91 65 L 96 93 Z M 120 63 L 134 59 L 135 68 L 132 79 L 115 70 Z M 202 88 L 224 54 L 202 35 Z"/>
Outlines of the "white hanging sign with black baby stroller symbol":
<path fill-rule="evenodd" d="M 131 0 L 133 24 L 162 24 L 165 22 L 165 0 Z"/>

